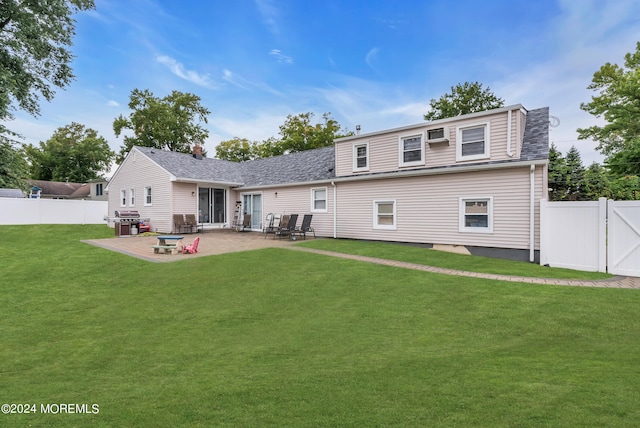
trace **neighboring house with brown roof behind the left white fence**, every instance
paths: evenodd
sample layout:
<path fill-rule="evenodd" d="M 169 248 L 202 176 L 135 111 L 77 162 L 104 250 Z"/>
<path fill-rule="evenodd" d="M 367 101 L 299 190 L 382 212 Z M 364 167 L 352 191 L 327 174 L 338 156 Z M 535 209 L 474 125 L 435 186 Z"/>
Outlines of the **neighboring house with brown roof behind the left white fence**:
<path fill-rule="evenodd" d="M 27 180 L 31 186 L 30 198 L 43 199 L 91 199 L 106 201 L 107 180 L 97 179 L 88 183 L 68 181 Z"/>

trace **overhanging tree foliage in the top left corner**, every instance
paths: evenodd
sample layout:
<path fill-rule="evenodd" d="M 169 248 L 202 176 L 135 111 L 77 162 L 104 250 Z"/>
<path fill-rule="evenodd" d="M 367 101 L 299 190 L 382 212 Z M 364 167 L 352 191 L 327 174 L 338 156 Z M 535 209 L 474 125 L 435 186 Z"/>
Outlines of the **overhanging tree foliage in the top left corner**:
<path fill-rule="evenodd" d="M 38 116 L 40 96 L 51 101 L 54 87 L 74 79 L 72 15 L 93 8 L 93 0 L 0 1 L 0 120 L 17 108 Z M 2 124 L 0 135 L 16 136 Z"/>

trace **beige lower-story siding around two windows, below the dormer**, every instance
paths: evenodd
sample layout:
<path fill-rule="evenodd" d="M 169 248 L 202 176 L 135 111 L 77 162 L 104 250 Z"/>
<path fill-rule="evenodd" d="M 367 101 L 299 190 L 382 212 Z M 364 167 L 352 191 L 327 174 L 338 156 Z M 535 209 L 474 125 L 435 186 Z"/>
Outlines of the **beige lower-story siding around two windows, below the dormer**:
<path fill-rule="evenodd" d="M 536 169 L 536 212 L 542 195 Z M 529 168 L 338 184 L 338 237 L 529 248 Z M 493 198 L 493 233 L 459 231 L 459 198 Z M 396 201 L 396 230 L 373 228 L 373 201 Z M 536 237 L 539 218 L 536 214 Z M 536 248 L 538 242 L 536 242 Z"/>

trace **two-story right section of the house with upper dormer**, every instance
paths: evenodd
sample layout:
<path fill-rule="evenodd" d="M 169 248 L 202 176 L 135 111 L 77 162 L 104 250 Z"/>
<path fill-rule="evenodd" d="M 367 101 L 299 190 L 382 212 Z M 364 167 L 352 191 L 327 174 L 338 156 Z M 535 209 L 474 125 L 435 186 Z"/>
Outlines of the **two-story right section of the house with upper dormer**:
<path fill-rule="evenodd" d="M 335 142 L 341 238 L 539 249 L 548 108 L 512 105 Z"/>

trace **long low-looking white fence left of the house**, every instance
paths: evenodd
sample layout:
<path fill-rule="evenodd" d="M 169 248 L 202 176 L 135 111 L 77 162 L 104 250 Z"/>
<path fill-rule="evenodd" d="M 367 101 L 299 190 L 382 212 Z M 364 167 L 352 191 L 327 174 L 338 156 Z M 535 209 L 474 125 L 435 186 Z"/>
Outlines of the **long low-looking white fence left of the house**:
<path fill-rule="evenodd" d="M 0 224 L 106 224 L 107 201 L 0 198 Z"/>

